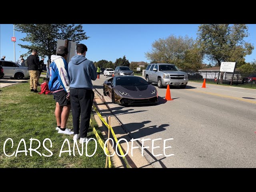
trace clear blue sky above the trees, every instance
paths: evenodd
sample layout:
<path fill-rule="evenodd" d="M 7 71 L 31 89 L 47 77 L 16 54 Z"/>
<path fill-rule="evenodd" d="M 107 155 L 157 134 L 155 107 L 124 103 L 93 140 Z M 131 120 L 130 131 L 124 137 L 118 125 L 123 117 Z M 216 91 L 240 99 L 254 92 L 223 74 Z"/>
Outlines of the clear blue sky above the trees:
<path fill-rule="evenodd" d="M 83 40 L 87 46 L 86 58 L 92 61 L 108 60 L 115 62 L 124 55 L 129 62 L 150 62 L 145 57 L 145 52 L 151 50 L 151 45 L 159 38 L 166 38 L 173 34 L 196 38 L 199 24 L 83 24 L 83 29 L 88 40 Z M 252 54 L 246 56 L 246 62 L 256 59 L 256 24 L 248 24 L 249 36 L 245 39 L 255 46 Z M 14 61 L 13 24 L 0 24 L 0 57 Z M 26 44 L 20 38 L 26 34 L 15 31 L 16 61 L 27 50 L 20 48 L 18 44 Z M 47 58 L 45 62 L 47 61 Z M 204 63 L 209 64 L 207 60 Z"/>

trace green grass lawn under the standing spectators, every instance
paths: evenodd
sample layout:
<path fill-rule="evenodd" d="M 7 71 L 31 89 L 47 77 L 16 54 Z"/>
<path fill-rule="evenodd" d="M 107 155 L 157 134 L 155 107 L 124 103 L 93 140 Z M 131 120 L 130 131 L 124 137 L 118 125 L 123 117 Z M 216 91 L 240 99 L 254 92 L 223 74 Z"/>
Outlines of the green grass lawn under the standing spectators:
<path fill-rule="evenodd" d="M 29 81 L 29 80 L 28 80 Z M 40 78 L 40 84 L 42 78 Z M 88 138 L 94 138 L 97 141 L 97 150 L 92 157 L 86 156 L 86 145 L 84 144 L 84 153 L 79 155 L 77 148 L 75 148 L 75 156 L 73 156 L 73 135 L 58 134 L 55 130 L 56 119 L 54 116 L 55 101 L 52 95 L 40 95 L 30 92 L 29 82 L 18 83 L 13 86 L 0 88 L 0 168 L 105 168 L 106 155 L 100 147 L 96 136 L 89 128 Z M 40 87 L 38 88 L 40 91 Z M 98 128 L 94 120 L 93 113 L 91 113 L 94 127 Z M 72 112 L 68 118 L 67 128 L 73 129 L 72 126 Z M 102 137 L 101 132 L 97 130 Z M 45 138 L 52 141 L 52 148 L 50 148 L 50 141 L 45 142 L 45 147 L 52 151 L 53 155 L 50 157 L 40 156 L 38 153 L 30 150 L 25 156 L 25 152 L 20 152 L 17 157 L 8 157 L 4 154 L 3 146 L 6 139 L 12 138 L 14 144 L 12 147 L 11 140 L 6 142 L 5 152 L 11 155 L 16 152 L 20 140 L 23 138 L 26 142 L 26 150 L 30 148 L 30 138 L 38 139 L 40 147 L 38 152 L 45 155 L 50 155 L 43 147 Z M 62 144 L 65 139 L 70 142 L 71 156 L 68 152 L 64 152 L 59 157 Z M 32 148 L 38 146 L 37 141 L 32 142 Z M 80 152 L 82 144 L 78 147 Z M 21 142 L 18 150 L 25 150 L 24 143 Z M 65 142 L 62 151 L 68 150 L 68 144 Z M 95 150 L 95 142 L 90 140 L 88 143 L 88 155 L 93 154 Z"/>

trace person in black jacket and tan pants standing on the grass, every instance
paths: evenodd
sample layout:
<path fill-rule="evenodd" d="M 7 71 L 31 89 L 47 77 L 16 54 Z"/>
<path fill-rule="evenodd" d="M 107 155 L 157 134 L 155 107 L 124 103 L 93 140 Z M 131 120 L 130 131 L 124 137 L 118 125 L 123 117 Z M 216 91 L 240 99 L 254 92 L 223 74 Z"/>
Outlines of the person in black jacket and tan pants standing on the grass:
<path fill-rule="evenodd" d="M 30 75 L 30 91 L 34 91 L 38 93 L 37 84 L 38 84 L 38 64 L 39 64 L 39 57 L 37 56 L 38 51 L 36 49 L 32 50 L 32 54 L 28 56 L 28 71 Z"/>

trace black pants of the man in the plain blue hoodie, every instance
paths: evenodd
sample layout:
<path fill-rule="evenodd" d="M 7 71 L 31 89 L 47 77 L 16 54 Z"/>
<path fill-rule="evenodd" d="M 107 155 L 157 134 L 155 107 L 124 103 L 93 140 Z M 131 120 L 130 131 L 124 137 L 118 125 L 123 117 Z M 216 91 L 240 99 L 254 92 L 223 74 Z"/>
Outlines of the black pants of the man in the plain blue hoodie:
<path fill-rule="evenodd" d="M 93 99 L 94 92 L 91 89 L 70 88 L 70 101 L 74 134 L 79 133 L 80 125 L 80 137 L 82 138 L 87 136 L 87 132 L 90 126 Z"/>

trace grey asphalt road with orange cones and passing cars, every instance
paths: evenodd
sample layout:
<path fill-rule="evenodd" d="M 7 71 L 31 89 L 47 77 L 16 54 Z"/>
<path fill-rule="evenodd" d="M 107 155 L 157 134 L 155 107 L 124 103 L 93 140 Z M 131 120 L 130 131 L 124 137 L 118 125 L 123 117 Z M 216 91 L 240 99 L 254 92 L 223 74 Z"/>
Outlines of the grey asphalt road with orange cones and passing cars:
<path fill-rule="evenodd" d="M 110 77 L 108 77 L 110 78 Z M 103 95 L 104 75 L 93 82 Z M 156 86 L 156 85 L 154 85 Z M 151 139 L 144 156 L 156 168 L 255 168 L 256 90 L 189 82 L 186 89 L 158 90 L 153 106 L 121 106 L 104 97 L 131 138 Z M 152 139 L 156 140 L 152 155 Z M 166 146 L 171 146 L 165 150 Z"/>

